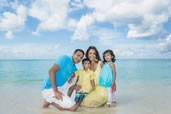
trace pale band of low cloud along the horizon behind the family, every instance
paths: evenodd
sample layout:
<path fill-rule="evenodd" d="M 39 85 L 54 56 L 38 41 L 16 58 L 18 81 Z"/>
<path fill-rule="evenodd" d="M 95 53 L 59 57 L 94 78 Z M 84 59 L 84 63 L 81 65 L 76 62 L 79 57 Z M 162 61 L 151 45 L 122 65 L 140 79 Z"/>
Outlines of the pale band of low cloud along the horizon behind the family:
<path fill-rule="evenodd" d="M 170 39 L 170 38 L 169 38 Z M 98 46 L 99 47 L 99 46 Z M 82 47 L 77 47 L 82 48 Z M 88 47 L 87 47 L 88 48 Z M 85 49 L 87 49 L 85 47 Z M 161 53 L 157 44 L 115 44 L 97 48 L 100 54 L 105 49 L 112 49 L 117 59 L 168 59 L 171 55 Z M 0 45 L 0 59 L 56 59 L 63 54 L 71 55 L 74 48 L 63 47 L 61 44 L 24 43 Z"/>

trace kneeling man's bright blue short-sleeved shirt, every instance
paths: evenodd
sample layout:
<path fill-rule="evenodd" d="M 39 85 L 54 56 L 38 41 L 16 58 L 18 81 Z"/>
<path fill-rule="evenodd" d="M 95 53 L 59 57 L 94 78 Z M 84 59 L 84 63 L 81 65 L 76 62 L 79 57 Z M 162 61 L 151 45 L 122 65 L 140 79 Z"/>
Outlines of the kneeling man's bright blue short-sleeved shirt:
<path fill-rule="evenodd" d="M 73 63 L 72 57 L 61 56 L 56 60 L 56 63 L 60 69 L 56 72 L 56 85 L 62 86 L 71 77 L 71 75 L 77 70 L 76 65 Z M 49 75 L 47 75 L 41 85 L 41 90 L 52 88 Z"/>

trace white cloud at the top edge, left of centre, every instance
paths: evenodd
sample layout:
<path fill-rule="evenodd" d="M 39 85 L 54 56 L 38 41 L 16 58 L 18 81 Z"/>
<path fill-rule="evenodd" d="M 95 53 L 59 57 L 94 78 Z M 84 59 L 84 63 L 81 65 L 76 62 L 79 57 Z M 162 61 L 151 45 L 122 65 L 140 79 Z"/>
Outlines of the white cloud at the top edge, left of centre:
<path fill-rule="evenodd" d="M 29 10 L 30 16 L 40 20 L 40 24 L 33 34 L 64 28 L 68 2 L 68 0 L 36 0 Z"/>

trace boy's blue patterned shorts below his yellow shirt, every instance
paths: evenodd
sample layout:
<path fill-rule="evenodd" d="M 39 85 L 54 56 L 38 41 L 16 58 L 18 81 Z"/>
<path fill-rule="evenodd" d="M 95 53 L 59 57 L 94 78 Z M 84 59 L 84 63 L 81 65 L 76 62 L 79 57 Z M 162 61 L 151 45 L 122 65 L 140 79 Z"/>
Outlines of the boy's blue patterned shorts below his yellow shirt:
<path fill-rule="evenodd" d="M 75 102 L 82 101 L 87 96 L 87 94 L 88 92 L 76 91 Z"/>

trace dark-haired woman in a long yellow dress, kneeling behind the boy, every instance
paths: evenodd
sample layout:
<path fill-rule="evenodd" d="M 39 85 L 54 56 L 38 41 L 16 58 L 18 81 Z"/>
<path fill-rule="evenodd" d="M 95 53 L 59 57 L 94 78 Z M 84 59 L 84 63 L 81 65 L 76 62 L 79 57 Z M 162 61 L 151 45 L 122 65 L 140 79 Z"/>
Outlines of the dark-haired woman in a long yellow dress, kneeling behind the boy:
<path fill-rule="evenodd" d="M 100 86 L 98 83 L 103 63 L 100 61 L 99 52 L 94 46 L 90 46 L 87 49 L 86 57 L 91 61 L 90 69 L 95 72 L 95 91 L 89 93 L 81 105 L 86 107 L 100 107 L 107 102 L 106 88 Z"/>

